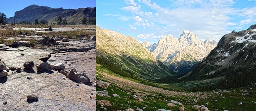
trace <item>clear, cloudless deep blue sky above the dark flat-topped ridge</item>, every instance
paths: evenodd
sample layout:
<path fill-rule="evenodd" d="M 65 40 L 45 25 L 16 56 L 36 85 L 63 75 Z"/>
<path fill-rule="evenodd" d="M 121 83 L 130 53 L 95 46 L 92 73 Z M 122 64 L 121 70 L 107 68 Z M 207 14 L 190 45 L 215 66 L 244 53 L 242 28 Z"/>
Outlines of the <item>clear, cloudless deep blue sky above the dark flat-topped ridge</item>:
<path fill-rule="evenodd" d="M 96 7 L 96 0 L 1 0 L 0 12 L 5 13 L 9 18 L 13 17 L 16 11 L 33 4 L 52 8 L 78 9 Z"/>

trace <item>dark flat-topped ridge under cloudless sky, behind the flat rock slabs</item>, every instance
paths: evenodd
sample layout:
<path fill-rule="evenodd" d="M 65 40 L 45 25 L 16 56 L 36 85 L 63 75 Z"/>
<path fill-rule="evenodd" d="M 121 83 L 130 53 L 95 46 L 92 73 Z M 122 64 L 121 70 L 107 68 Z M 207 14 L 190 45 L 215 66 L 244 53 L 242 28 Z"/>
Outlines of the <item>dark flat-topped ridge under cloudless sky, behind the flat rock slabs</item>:
<path fill-rule="evenodd" d="M 35 19 L 47 20 L 48 23 L 56 22 L 56 18 L 61 16 L 66 18 L 68 23 L 79 24 L 84 17 L 96 17 L 96 7 L 94 8 L 79 8 L 79 9 L 54 9 L 51 7 L 30 5 L 20 11 L 15 12 L 14 17 L 10 17 L 7 22 L 22 22 L 27 21 L 34 23 Z"/>

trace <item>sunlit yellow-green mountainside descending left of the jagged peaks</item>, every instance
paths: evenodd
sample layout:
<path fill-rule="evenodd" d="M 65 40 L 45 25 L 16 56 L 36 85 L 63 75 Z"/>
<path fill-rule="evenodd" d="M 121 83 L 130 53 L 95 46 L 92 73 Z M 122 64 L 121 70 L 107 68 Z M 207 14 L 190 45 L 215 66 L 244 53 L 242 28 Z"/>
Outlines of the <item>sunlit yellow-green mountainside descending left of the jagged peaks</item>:
<path fill-rule="evenodd" d="M 96 28 L 96 34 L 98 58 L 108 59 L 121 70 L 144 79 L 154 80 L 173 75 L 134 37 L 99 27 Z"/>

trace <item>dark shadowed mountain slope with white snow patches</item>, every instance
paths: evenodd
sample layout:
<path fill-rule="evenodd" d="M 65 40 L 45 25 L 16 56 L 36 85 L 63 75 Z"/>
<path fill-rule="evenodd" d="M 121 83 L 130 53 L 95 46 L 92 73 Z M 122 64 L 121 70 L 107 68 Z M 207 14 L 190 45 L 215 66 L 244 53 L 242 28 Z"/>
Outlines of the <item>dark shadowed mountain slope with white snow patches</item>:
<path fill-rule="evenodd" d="M 224 35 L 218 45 L 192 72 L 195 77 L 223 77 L 222 87 L 256 82 L 256 27 Z M 245 81 L 246 80 L 246 81 Z"/>

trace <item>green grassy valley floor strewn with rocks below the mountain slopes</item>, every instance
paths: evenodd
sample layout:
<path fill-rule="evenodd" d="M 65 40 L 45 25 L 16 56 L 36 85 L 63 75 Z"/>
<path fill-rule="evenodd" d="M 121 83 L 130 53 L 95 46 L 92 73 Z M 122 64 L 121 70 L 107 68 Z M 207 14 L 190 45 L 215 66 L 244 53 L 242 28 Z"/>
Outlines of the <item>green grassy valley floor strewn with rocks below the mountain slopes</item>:
<path fill-rule="evenodd" d="M 197 111 L 194 105 L 204 105 L 210 111 L 224 109 L 229 111 L 255 111 L 256 110 L 256 88 L 245 87 L 239 89 L 230 89 L 228 91 L 208 91 L 208 92 L 187 92 L 187 91 L 171 91 L 163 88 L 178 90 L 182 88 L 182 84 L 157 84 L 152 83 L 156 88 L 141 84 L 140 81 L 122 77 L 99 64 L 96 65 L 96 77 L 102 81 L 109 82 L 111 85 L 107 91 L 111 97 L 96 96 L 96 108 L 102 111 L 102 107 L 106 107 L 108 111 L 125 110 L 132 108 L 144 111 L 156 111 L 157 109 L 171 109 L 178 111 L 181 105 L 168 106 L 171 100 L 176 100 L 184 105 L 184 111 Z M 96 91 L 104 89 L 96 88 Z M 113 97 L 113 94 L 120 97 Z M 137 95 L 143 101 L 132 97 Z M 241 105 L 239 103 L 242 102 Z M 206 104 L 208 103 L 208 105 Z M 110 104 L 110 105 L 109 105 Z"/>

